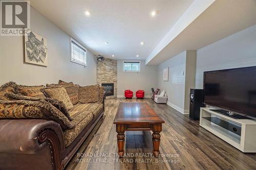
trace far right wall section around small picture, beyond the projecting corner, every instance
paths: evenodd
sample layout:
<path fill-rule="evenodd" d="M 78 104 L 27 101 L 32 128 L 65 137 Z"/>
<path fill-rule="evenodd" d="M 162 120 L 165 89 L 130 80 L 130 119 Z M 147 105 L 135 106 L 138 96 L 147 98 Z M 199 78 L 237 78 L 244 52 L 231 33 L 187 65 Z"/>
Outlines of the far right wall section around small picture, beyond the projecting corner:
<path fill-rule="evenodd" d="M 163 81 L 163 69 L 169 67 L 169 81 Z M 168 95 L 168 104 L 184 110 L 186 51 L 158 66 L 158 87 Z M 182 72 L 184 71 L 184 75 Z"/>

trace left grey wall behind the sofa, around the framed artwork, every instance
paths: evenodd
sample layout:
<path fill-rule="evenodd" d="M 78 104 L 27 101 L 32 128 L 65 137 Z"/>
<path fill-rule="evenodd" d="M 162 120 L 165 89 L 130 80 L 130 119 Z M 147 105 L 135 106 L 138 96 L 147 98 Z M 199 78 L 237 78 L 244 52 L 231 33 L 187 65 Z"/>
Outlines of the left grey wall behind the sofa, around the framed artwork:
<path fill-rule="evenodd" d="M 48 41 L 48 66 L 24 63 L 22 36 L 0 36 L 0 85 L 14 81 L 24 85 L 57 83 L 96 84 L 96 61 L 88 51 L 88 66 L 70 62 L 70 36 L 31 8 L 31 30 Z"/>

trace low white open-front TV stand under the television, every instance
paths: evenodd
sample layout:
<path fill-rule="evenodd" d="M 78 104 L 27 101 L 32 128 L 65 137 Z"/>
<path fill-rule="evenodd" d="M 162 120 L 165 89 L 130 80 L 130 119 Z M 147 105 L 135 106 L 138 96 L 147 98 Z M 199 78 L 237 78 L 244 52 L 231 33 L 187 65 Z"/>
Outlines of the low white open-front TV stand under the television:
<path fill-rule="evenodd" d="M 212 108 L 200 109 L 201 127 L 215 134 L 242 152 L 256 153 L 256 120 L 234 119 L 209 109 Z M 232 124 L 241 127 L 241 135 L 235 134 L 215 124 L 216 122 L 213 123 L 214 121 L 212 121 L 212 119 L 217 119 L 226 124 Z"/>

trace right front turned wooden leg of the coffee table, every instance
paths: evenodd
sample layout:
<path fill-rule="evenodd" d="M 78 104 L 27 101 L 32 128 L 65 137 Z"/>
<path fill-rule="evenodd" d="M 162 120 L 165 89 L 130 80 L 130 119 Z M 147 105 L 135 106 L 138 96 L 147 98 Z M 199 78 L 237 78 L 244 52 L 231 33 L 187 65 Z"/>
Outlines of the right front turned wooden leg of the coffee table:
<path fill-rule="evenodd" d="M 153 140 L 153 154 L 155 157 L 158 157 L 159 155 L 159 147 L 160 147 L 160 132 L 162 131 L 162 124 L 154 124 L 153 125 L 153 134 L 152 134 L 152 140 Z"/>

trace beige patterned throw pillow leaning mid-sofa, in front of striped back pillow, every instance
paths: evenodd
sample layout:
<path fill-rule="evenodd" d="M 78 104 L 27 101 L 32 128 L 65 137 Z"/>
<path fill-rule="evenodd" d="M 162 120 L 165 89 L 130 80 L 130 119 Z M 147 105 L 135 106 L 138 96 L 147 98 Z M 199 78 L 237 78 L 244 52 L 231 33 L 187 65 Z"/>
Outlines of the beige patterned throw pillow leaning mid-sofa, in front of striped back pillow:
<path fill-rule="evenodd" d="M 57 99 L 62 101 L 68 110 L 72 109 L 74 106 L 70 101 L 69 95 L 64 87 L 49 87 L 43 88 L 41 91 L 51 99 Z"/>

